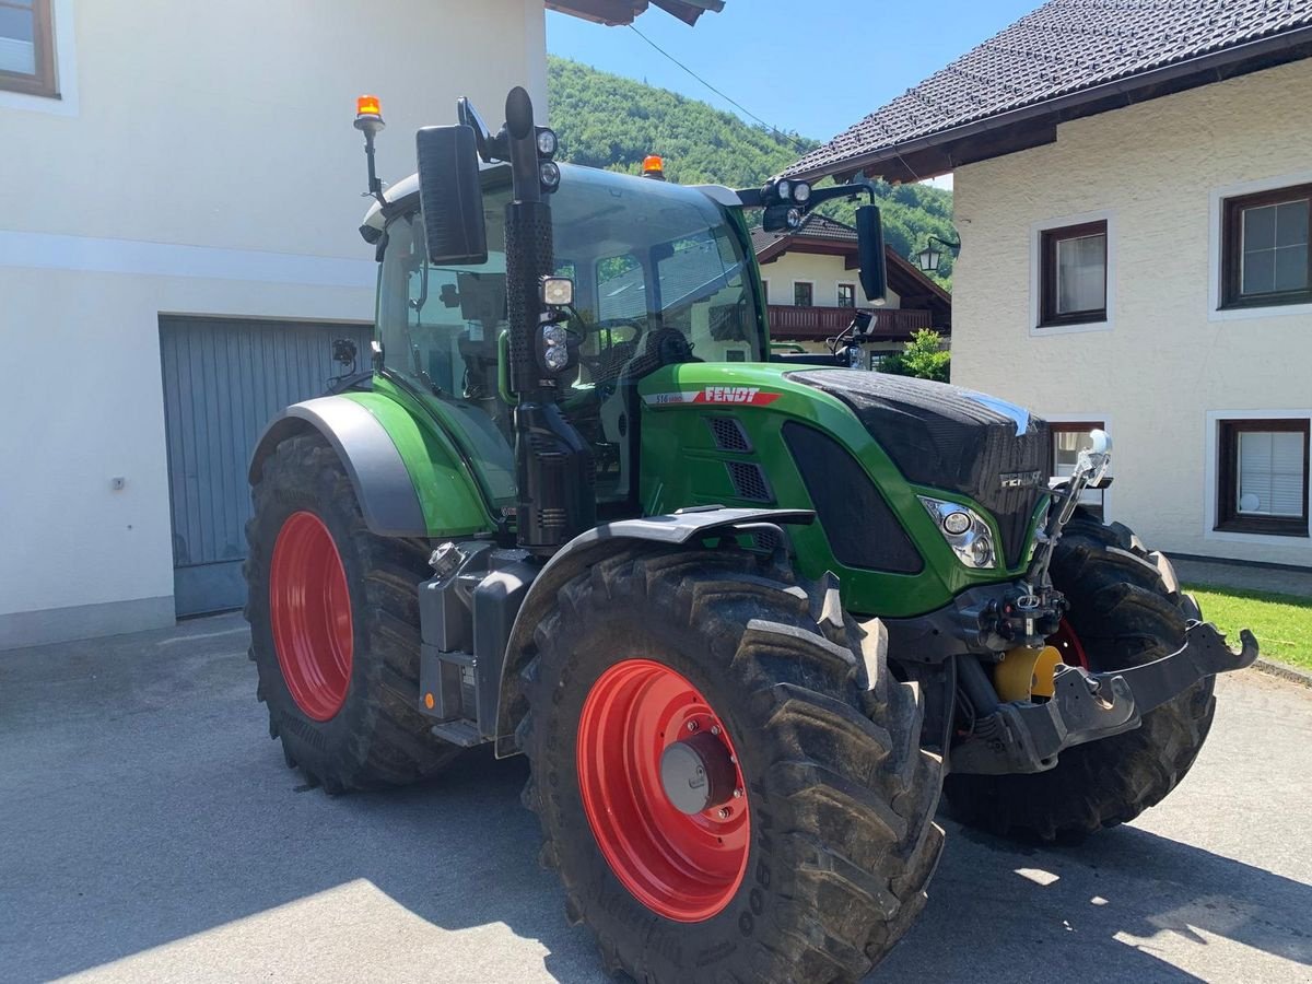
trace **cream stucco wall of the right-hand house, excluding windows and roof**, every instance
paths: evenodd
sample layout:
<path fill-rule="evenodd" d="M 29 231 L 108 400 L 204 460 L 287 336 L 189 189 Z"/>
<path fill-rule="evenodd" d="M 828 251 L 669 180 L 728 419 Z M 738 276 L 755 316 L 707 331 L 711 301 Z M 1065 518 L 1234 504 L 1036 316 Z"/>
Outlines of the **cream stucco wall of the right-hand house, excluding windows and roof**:
<path fill-rule="evenodd" d="M 1065 123 L 956 171 L 953 380 L 1107 421 L 1113 518 L 1185 554 L 1312 565 L 1312 541 L 1212 531 L 1220 416 L 1312 415 L 1312 311 L 1216 312 L 1219 201 L 1312 181 L 1312 62 Z M 1038 228 L 1109 219 L 1110 321 L 1035 329 Z"/>

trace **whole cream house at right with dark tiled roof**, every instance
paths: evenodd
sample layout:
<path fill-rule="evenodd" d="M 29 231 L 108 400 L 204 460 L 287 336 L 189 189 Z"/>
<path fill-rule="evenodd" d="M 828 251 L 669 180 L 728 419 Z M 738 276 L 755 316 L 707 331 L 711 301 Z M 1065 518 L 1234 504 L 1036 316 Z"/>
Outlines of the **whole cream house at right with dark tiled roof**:
<path fill-rule="evenodd" d="M 953 380 L 1115 438 L 1111 518 L 1312 565 L 1312 0 L 1052 0 L 804 157 L 955 176 Z"/>

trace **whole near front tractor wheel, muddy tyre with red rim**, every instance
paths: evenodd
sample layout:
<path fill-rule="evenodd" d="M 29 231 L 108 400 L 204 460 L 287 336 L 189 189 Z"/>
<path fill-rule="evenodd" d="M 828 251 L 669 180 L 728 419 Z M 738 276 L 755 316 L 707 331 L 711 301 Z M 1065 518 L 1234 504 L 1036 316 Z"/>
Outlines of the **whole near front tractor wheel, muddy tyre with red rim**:
<path fill-rule="evenodd" d="M 562 588 L 521 678 L 523 799 L 607 972 L 855 981 L 905 933 L 942 762 L 863 635 L 833 584 L 737 548 L 631 548 Z M 663 754 L 694 736 L 733 791 L 685 773 L 724 798 L 680 812 Z"/>

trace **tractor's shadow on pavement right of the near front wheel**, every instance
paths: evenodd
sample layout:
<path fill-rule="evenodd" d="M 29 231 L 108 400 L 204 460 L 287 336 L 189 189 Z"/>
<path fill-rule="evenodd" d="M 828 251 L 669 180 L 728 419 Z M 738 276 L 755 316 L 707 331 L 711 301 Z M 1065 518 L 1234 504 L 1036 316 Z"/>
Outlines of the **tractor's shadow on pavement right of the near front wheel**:
<path fill-rule="evenodd" d="M 929 905 L 870 984 L 1200 980 L 1152 951 L 1210 935 L 1312 966 L 1312 886 L 1136 827 L 1027 848 L 939 820 Z"/>

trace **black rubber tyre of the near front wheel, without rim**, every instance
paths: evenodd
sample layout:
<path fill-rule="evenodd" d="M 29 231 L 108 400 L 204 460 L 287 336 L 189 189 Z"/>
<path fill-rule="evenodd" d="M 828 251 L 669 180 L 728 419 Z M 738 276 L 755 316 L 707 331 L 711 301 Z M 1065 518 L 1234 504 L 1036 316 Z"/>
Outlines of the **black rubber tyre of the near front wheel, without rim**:
<path fill-rule="evenodd" d="M 846 618 L 836 586 L 740 550 L 628 550 L 559 593 L 535 632 L 520 740 L 572 922 L 611 974 L 644 984 L 854 981 L 925 901 L 942 846 L 941 761 L 918 747 L 917 691 Z M 745 874 L 718 913 L 676 922 L 628 892 L 580 794 L 576 735 L 594 681 L 631 659 L 691 682 L 736 749 Z"/>

